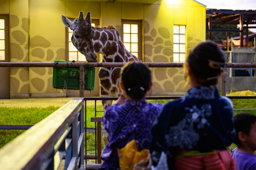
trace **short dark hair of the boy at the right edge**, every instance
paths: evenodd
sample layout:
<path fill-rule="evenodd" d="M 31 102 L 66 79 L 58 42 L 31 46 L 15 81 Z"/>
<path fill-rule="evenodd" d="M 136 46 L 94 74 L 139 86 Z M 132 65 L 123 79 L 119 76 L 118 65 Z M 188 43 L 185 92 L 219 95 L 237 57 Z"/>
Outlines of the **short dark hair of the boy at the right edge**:
<path fill-rule="evenodd" d="M 236 129 L 236 139 L 234 143 L 237 146 L 241 146 L 241 142 L 238 139 L 238 133 L 242 132 L 246 135 L 249 135 L 252 124 L 256 122 L 256 116 L 249 113 L 240 113 L 234 116 L 234 126 Z"/>

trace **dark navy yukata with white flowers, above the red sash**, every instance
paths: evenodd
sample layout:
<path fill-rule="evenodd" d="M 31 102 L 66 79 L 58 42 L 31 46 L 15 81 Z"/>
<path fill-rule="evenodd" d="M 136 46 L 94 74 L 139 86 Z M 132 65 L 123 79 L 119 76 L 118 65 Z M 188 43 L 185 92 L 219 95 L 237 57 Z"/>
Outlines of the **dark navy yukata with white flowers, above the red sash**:
<path fill-rule="evenodd" d="M 216 87 L 194 87 L 166 103 L 153 123 L 150 154 L 155 169 L 176 169 L 174 159 L 181 150 L 201 153 L 223 150 L 236 137 L 233 103 L 219 96 Z"/>

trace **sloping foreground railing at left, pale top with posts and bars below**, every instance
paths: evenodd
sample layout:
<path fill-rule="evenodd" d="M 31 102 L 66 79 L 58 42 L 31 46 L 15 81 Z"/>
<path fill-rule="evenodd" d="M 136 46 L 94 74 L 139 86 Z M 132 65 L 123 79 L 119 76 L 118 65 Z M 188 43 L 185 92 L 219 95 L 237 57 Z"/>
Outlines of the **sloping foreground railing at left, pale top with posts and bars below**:
<path fill-rule="evenodd" d="M 84 168 L 84 99 L 74 98 L 0 149 L 1 170 Z"/>

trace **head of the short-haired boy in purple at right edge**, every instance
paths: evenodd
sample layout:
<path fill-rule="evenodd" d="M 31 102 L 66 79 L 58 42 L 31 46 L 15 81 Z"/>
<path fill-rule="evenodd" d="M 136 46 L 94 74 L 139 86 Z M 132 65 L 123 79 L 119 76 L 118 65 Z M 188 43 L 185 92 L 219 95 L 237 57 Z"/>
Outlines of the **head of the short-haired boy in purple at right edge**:
<path fill-rule="evenodd" d="M 236 145 L 256 150 L 256 116 L 249 113 L 240 113 L 234 116 L 236 129 Z"/>

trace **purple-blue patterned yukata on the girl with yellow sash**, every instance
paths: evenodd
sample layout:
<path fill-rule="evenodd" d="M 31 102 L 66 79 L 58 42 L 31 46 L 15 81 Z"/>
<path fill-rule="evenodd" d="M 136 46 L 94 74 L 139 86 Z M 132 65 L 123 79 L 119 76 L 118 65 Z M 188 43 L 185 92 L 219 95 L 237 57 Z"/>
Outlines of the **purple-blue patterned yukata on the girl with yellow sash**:
<path fill-rule="evenodd" d="M 103 150 L 100 169 L 119 170 L 117 147 L 123 148 L 132 139 L 139 150 L 148 149 L 150 127 L 161 109 L 162 104 L 147 103 L 145 99 L 127 99 L 122 105 L 109 106 L 102 118 L 109 143 Z"/>

